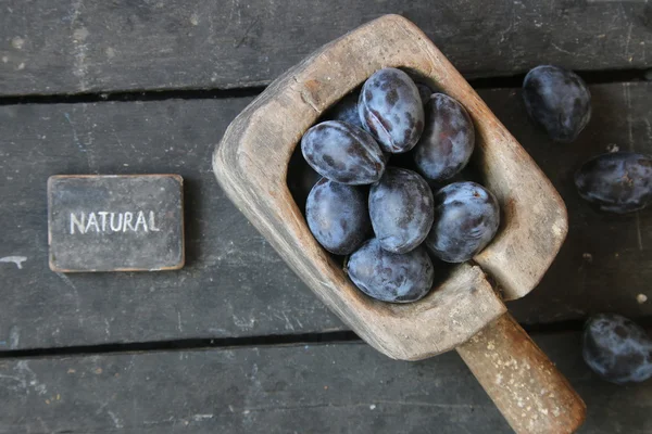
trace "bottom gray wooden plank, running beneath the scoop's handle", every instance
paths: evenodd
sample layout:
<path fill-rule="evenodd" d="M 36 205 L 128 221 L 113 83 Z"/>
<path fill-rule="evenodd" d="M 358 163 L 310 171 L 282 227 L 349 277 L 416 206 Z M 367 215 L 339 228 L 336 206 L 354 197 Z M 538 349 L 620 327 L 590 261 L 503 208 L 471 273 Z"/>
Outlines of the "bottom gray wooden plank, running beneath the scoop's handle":
<path fill-rule="evenodd" d="M 582 433 L 652 430 L 652 383 L 584 365 L 540 335 L 588 406 Z M 0 361 L 0 433 L 510 433 L 454 353 L 391 360 L 363 343 Z"/>

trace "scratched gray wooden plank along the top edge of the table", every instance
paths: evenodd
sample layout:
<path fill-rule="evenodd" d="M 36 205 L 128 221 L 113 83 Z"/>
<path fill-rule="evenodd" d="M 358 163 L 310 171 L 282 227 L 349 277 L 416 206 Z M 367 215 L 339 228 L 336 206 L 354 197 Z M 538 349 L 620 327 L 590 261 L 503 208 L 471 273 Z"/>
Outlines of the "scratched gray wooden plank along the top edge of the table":
<path fill-rule="evenodd" d="M 5 0 L 0 11 L 4 95 L 260 86 L 386 13 L 414 21 L 468 76 L 542 62 L 642 68 L 652 44 L 652 7 L 629 0 Z"/>

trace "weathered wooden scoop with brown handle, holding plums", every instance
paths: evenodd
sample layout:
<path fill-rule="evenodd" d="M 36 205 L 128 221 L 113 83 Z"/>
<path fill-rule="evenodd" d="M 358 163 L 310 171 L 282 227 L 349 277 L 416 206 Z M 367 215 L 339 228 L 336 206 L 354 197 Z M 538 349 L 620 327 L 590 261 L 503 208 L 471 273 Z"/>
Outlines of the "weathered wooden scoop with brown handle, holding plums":
<path fill-rule="evenodd" d="M 460 101 L 476 127 L 473 164 L 503 226 L 475 264 L 405 305 L 371 299 L 314 240 L 287 186 L 288 162 L 319 115 L 375 71 L 400 67 Z M 456 348 L 518 433 L 574 432 L 586 407 L 506 312 L 541 280 L 567 232 L 564 203 L 518 142 L 411 22 L 386 15 L 286 72 L 228 127 L 213 167 L 222 188 L 315 294 L 369 345 L 417 360 Z"/>

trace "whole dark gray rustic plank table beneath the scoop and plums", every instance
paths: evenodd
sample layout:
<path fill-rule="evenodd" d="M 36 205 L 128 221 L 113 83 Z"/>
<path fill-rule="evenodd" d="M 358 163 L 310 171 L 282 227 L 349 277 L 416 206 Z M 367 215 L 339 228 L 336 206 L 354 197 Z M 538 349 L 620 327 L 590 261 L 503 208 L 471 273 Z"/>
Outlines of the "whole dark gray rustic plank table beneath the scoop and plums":
<path fill-rule="evenodd" d="M 266 84 L 384 13 L 425 30 L 566 201 L 562 252 L 509 307 L 585 398 L 582 432 L 652 432 L 652 383 L 604 383 L 579 352 L 592 312 L 652 324 L 637 301 L 652 299 L 652 214 L 598 214 L 572 182 L 607 146 L 652 152 L 651 2 L 4 0 L 0 433 L 510 432 L 456 355 L 393 361 L 358 340 L 211 170 Z M 576 143 L 552 144 L 525 115 L 519 85 L 540 63 L 591 85 Z M 186 267 L 50 271 L 48 177 L 147 173 L 185 178 Z"/>

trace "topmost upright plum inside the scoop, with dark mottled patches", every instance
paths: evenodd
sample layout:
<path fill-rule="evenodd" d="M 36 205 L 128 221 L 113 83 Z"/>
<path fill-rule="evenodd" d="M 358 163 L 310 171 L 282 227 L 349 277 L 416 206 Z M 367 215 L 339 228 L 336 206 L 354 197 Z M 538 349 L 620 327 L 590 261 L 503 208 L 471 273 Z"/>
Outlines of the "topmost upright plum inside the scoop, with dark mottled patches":
<path fill-rule="evenodd" d="M 385 152 L 410 151 L 424 130 L 418 89 L 400 69 L 374 73 L 362 87 L 358 110 L 362 125 Z"/>

